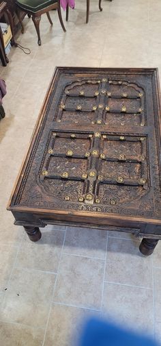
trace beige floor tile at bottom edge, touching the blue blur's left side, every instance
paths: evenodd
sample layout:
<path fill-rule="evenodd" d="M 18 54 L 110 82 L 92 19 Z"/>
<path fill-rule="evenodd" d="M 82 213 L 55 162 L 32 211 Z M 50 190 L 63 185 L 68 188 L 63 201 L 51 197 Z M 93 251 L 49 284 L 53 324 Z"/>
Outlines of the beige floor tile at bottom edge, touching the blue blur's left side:
<path fill-rule="evenodd" d="M 44 346 L 77 345 L 83 323 L 93 314 L 97 312 L 54 305 L 50 312 Z"/>

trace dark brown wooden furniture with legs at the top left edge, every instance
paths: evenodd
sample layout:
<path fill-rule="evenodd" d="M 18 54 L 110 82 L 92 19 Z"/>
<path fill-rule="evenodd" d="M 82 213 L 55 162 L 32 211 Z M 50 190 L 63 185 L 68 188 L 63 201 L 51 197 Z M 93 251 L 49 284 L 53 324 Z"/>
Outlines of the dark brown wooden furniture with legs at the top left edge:
<path fill-rule="evenodd" d="M 0 18 L 4 16 L 6 23 L 10 24 L 11 27 L 11 32 L 12 32 L 12 45 L 15 45 L 14 41 L 14 26 L 13 26 L 13 21 L 12 21 L 12 15 L 10 11 L 8 10 L 7 3 L 2 1 L 0 3 Z M 0 27 L 0 58 L 3 66 L 7 66 L 7 63 L 9 62 L 7 55 L 5 54 L 5 46 L 4 46 L 4 41 L 3 41 L 3 34 L 2 30 Z"/>

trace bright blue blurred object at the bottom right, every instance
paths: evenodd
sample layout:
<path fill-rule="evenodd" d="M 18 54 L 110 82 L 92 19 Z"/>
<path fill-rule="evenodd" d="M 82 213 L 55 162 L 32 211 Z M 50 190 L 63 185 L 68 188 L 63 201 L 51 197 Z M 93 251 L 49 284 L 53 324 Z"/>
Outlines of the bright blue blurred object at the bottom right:
<path fill-rule="evenodd" d="M 92 318 L 85 324 L 79 346 L 158 346 L 147 336 Z"/>

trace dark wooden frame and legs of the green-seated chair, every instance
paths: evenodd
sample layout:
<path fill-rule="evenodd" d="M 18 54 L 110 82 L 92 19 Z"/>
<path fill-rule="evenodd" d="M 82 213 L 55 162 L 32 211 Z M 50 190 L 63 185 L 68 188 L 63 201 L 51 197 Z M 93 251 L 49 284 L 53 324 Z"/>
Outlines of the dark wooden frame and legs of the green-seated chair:
<path fill-rule="evenodd" d="M 18 5 L 18 3 L 16 3 L 16 4 L 17 4 L 17 11 L 16 11 L 16 13 L 17 13 L 18 19 L 19 19 L 21 27 L 22 27 L 22 29 L 21 29 L 22 34 L 24 33 L 24 25 L 23 25 L 22 18 L 20 16 L 20 10 L 23 10 L 25 13 L 27 13 L 29 17 L 32 16 L 32 20 L 33 20 L 33 23 L 35 25 L 36 32 L 38 34 L 38 45 L 39 46 L 41 46 L 41 44 L 42 44 L 41 38 L 40 38 L 40 20 L 41 20 L 42 14 L 46 13 L 50 25 L 53 25 L 53 22 L 52 22 L 52 20 L 50 18 L 49 11 L 57 10 L 58 16 L 59 16 L 59 21 L 61 23 L 61 27 L 63 29 L 63 32 L 66 32 L 65 27 L 63 25 L 63 19 L 62 19 L 62 16 L 61 16 L 61 6 L 60 6 L 60 1 L 59 0 L 57 0 L 57 3 L 53 3 L 53 5 L 50 5 L 50 6 L 44 8 L 44 9 L 38 11 L 38 12 L 31 12 L 29 10 L 25 10 L 24 8 L 21 8 L 20 4 L 19 5 Z"/>

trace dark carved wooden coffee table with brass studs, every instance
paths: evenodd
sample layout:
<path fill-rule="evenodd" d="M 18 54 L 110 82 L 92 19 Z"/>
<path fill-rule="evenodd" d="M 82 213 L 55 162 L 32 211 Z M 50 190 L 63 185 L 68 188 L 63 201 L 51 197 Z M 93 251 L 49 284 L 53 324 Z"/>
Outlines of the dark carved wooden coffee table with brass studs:
<path fill-rule="evenodd" d="M 8 203 L 29 238 L 70 225 L 161 239 L 157 69 L 56 69 Z M 92 232 L 92 230 L 91 230 Z"/>

